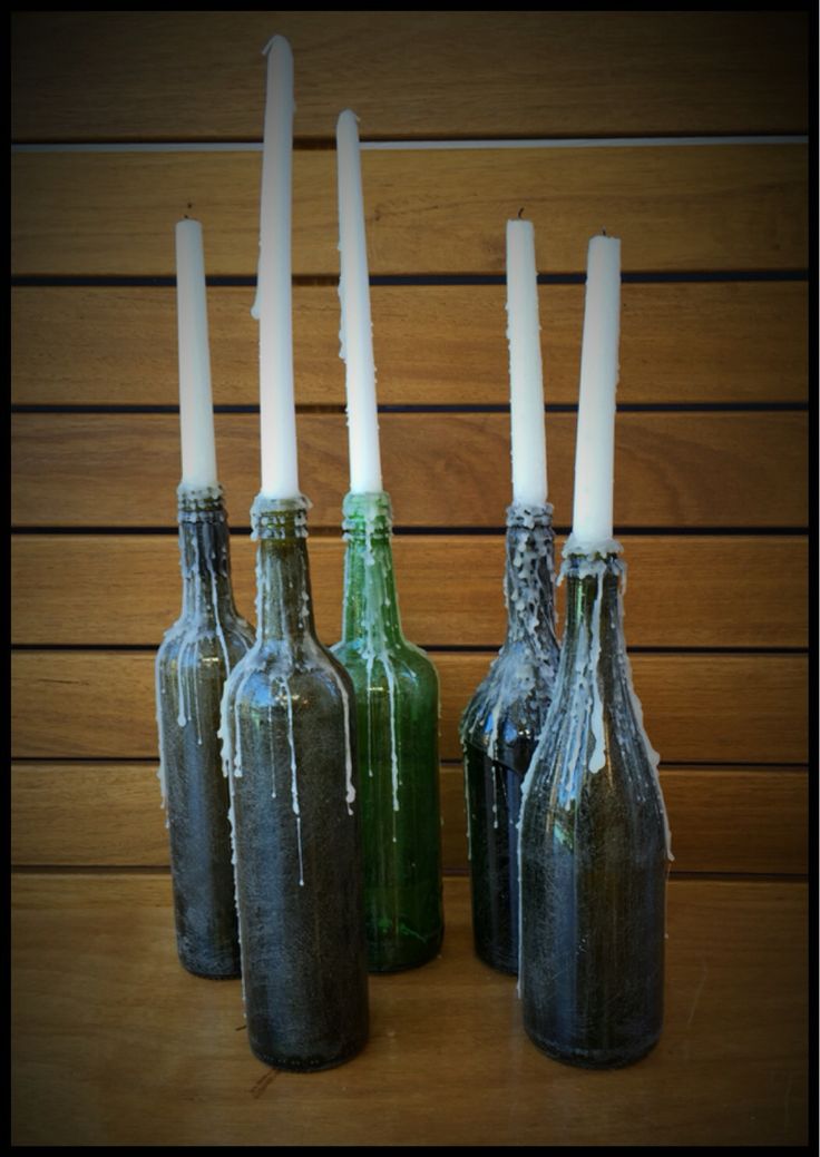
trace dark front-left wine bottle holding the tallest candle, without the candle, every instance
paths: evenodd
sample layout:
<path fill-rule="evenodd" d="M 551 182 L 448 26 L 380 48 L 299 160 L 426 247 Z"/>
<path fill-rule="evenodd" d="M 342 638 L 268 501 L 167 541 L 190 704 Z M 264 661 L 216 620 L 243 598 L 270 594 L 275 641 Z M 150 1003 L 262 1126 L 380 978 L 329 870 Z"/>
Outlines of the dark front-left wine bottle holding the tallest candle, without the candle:
<path fill-rule="evenodd" d="M 307 501 L 258 495 L 257 633 L 222 699 L 254 1054 L 330 1068 L 367 1040 L 353 688 L 316 639 Z"/>

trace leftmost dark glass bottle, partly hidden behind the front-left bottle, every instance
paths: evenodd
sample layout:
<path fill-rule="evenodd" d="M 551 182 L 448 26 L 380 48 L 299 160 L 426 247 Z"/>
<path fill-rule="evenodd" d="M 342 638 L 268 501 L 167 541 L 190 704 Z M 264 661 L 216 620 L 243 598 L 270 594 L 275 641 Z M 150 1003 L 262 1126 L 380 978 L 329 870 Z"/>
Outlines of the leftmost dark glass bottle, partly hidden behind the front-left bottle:
<path fill-rule="evenodd" d="M 180 960 L 217 979 L 240 974 L 228 783 L 217 732 L 225 679 L 254 632 L 234 606 L 221 489 L 180 486 L 177 500 L 182 612 L 156 654 L 159 775 Z"/>

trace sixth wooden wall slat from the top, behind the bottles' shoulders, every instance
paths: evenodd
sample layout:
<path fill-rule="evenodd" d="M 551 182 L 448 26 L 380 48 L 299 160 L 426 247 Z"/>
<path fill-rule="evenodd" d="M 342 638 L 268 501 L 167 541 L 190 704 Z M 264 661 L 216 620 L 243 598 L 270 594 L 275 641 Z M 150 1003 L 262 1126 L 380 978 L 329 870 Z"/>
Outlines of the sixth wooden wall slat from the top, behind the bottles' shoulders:
<path fill-rule="evenodd" d="M 495 653 L 439 653 L 441 758 Z M 804 764 L 805 655 L 634 655 L 646 729 L 665 762 Z M 156 754 L 151 651 L 17 651 L 12 756 L 134 759 Z"/>

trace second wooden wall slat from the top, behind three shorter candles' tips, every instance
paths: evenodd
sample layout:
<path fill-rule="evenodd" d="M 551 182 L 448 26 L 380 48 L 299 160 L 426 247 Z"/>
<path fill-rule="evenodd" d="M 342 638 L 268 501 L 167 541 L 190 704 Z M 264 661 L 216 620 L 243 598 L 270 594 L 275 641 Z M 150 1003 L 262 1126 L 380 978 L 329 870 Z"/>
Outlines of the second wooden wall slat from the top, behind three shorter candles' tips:
<path fill-rule="evenodd" d="M 591 236 L 629 270 L 807 264 L 800 145 L 437 149 L 361 155 L 373 274 L 503 273 L 505 222 L 534 222 L 541 272 L 583 271 Z M 259 153 L 17 154 L 15 274 L 169 274 L 174 226 L 203 222 L 210 274 L 254 274 Z M 293 272 L 338 273 L 336 156 L 293 163 Z"/>

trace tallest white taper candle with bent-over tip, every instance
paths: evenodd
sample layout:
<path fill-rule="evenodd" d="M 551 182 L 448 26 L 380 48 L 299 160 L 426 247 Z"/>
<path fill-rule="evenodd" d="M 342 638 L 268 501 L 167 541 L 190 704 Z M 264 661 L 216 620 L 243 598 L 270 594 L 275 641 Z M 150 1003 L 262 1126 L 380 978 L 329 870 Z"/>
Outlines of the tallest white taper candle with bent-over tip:
<path fill-rule="evenodd" d="M 291 304 L 293 54 L 281 36 L 274 36 L 265 52 L 268 93 L 254 309 L 259 320 L 261 493 L 291 499 L 299 496 Z"/>

